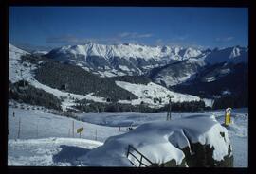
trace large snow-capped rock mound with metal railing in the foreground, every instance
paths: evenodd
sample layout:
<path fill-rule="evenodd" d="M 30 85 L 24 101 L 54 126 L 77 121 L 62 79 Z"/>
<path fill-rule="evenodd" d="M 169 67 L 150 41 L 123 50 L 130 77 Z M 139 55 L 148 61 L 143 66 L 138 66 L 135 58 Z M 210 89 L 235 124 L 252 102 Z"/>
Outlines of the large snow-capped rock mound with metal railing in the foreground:
<path fill-rule="evenodd" d="M 103 146 L 92 149 L 80 161 L 82 165 L 92 166 L 138 165 L 132 155 L 127 157 L 128 146 L 131 145 L 155 165 L 166 166 L 174 161 L 176 165 L 193 166 L 189 158 L 198 157 L 196 153 L 199 150 L 194 148 L 197 144 L 209 150 L 204 151 L 205 155 L 212 155 L 210 160 L 213 163 L 207 157 L 206 166 L 227 166 L 223 165 L 227 159 L 232 164 L 228 130 L 213 115 L 206 114 L 143 124 L 136 130 L 108 138 Z M 188 148 L 189 156 L 185 150 Z M 139 156 L 137 158 L 140 159 Z M 147 161 L 143 163 L 151 165 Z"/>

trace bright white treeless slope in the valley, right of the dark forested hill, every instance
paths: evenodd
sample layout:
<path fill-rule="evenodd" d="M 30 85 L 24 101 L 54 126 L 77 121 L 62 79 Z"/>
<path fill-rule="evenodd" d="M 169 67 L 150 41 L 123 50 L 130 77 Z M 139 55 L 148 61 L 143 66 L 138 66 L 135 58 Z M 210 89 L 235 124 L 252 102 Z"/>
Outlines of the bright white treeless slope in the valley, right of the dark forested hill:
<path fill-rule="evenodd" d="M 147 85 L 144 85 L 144 84 L 129 83 L 125 81 L 116 81 L 116 84 L 119 87 L 133 93 L 135 96 L 138 97 L 138 99 L 133 99 L 131 101 L 119 100 L 119 103 L 131 103 L 132 105 L 139 105 L 141 101 L 143 101 L 144 103 L 149 104 L 150 107 L 160 107 L 169 103 L 168 96 L 174 96 L 174 98 L 172 99 L 173 102 L 200 100 L 200 98 L 197 96 L 175 93 L 153 82 L 150 82 Z M 161 98 L 162 102 L 155 103 L 154 98 Z"/>

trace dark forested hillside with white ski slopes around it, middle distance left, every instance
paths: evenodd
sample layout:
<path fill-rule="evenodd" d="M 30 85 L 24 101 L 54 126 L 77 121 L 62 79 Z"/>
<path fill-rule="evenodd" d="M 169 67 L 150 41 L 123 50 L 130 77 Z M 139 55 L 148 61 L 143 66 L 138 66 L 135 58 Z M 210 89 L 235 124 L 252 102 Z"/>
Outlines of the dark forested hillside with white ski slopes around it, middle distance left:
<path fill-rule="evenodd" d="M 25 55 L 28 56 L 22 57 Z M 122 78 L 100 78 L 80 67 L 52 62 L 45 58 L 37 60 L 40 58 L 33 58 L 33 55 L 9 44 L 9 80 L 12 83 L 26 80 L 37 89 L 42 89 L 59 99 L 63 98 L 63 110 L 74 106 L 76 100 L 106 103 L 107 97 L 116 99 L 120 104 L 140 105 L 142 102 L 152 108 L 167 104 L 167 95 L 174 96 L 174 102 L 199 100 L 197 96 L 174 93 L 144 77 L 140 77 L 141 80 L 138 80 L 139 77 L 130 77 L 128 82 L 124 82 L 125 79 Z M 69 86 L 68 90 L 60 88 L 63 84 Z M 162 102 L 155 103 L 156 98 Z"/>

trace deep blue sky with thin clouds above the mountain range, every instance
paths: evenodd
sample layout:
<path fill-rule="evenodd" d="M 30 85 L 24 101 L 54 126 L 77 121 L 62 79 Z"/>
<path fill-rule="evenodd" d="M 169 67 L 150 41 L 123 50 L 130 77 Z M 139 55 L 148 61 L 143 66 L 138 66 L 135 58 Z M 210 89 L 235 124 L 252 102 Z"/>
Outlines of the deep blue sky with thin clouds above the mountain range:
<path fill-rule="evenodd" d="M 37 47 L 140 43 L 201 48 L 248 44 L 246 8 L 11 7 L 9 42 Z"/>

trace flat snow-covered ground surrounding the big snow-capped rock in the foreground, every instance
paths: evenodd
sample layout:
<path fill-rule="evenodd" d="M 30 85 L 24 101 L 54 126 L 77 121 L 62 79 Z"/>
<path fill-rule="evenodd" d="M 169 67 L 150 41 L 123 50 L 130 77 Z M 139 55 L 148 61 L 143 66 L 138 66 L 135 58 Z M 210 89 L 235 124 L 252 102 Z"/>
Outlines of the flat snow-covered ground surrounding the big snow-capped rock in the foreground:
<path fill-rule="evenodd" d="M 78 115 L 82 122 L 23 105 L 25 109 L 9 106 L 9 165 L 80 165 L 79 157 L 101 146 L 108 137 L 125 133 L 131 124 L 137 127 L 166 120 L 166 113 L 82 113 Z M 247 167 L 247 109 L 236 109 L 232 113 L 233 124 L 228 130 L 234 166 Z M 172 113 L 172 118 L 192 114 L 198 113 Z M 220 123 L 224 122 L 223 110 L 204 114 L 214 114 Z M 19 120 L 20 138 L 17 139 Z M 82 127 L 82 138 L 79 138 L 76 130 Z"/>

